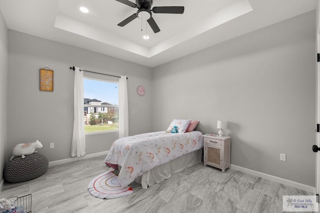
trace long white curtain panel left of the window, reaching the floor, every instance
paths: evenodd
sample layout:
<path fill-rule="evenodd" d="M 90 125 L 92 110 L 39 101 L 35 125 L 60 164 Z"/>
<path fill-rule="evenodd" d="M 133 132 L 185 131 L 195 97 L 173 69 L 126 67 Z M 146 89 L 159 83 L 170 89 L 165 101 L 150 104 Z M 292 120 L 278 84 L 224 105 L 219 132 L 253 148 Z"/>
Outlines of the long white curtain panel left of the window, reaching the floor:
<path fill-rule="evenodd" d="M 85 136 L 83 121 L 83 71 L 74 70 L 74 120 L 71 143 L 71 157 L 85 155 Z"/>

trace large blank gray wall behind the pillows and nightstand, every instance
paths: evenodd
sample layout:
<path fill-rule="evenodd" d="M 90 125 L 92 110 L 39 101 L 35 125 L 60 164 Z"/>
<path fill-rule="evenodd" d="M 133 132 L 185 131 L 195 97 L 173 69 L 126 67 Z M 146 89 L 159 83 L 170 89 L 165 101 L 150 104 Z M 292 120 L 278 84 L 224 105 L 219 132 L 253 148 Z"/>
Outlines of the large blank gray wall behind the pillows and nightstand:
<path fill-rule="evenodd" d="M 227 121 L 231 164 L 314 186 L 314 11 L 152 71 L 152 131 L 181 118 L 217 133 Z"/>

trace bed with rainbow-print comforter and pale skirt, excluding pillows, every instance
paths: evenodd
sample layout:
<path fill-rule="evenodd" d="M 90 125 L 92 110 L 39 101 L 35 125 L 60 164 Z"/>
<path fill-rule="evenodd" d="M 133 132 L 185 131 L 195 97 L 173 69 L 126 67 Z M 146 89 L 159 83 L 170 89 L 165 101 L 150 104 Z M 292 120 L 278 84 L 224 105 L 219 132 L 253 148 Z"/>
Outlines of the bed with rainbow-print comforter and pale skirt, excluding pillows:
<path fill-rule="evenodd" d="M 146 189 L 169 178 L 172 173 L 201 161 L 202 133 L 181 131 L 120 138 L 112 144 L 104 163 L 112 168 L 120 166 L 118 180 L 121 186 L 136 181 Z"/>

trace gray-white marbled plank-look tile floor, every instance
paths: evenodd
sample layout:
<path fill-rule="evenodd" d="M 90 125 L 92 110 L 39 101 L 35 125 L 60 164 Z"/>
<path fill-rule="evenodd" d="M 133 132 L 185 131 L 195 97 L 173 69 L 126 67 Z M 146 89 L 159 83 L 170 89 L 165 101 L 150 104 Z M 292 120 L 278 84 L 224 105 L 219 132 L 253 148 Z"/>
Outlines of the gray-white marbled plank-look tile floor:
<path fill-rule="evenodd" d="M 105 156 L 49 167 L 41 177 L 5 183 L 0 198 L 32 194 L 32 213 L 282 213 L 283 195 L 309 192 L 235 170 L 222 173 L 202 163 L 133 193 L 103 200 L 91 196 L 87 185 L 109 170 Z"/>

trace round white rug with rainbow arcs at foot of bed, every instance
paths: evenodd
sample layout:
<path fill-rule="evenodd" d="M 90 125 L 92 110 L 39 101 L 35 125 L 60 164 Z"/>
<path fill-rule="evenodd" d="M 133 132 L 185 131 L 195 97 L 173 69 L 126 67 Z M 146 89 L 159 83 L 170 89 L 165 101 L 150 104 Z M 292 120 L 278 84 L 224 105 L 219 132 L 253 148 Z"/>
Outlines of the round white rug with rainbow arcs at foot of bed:
<path fill-rule="evenodd" d="M 93 178 L 88 185 L 89 193 L 96 198 L 120 198 L 133 193 L 131 187 L 121 187 L 113 171 L 102 173 Z"/>

